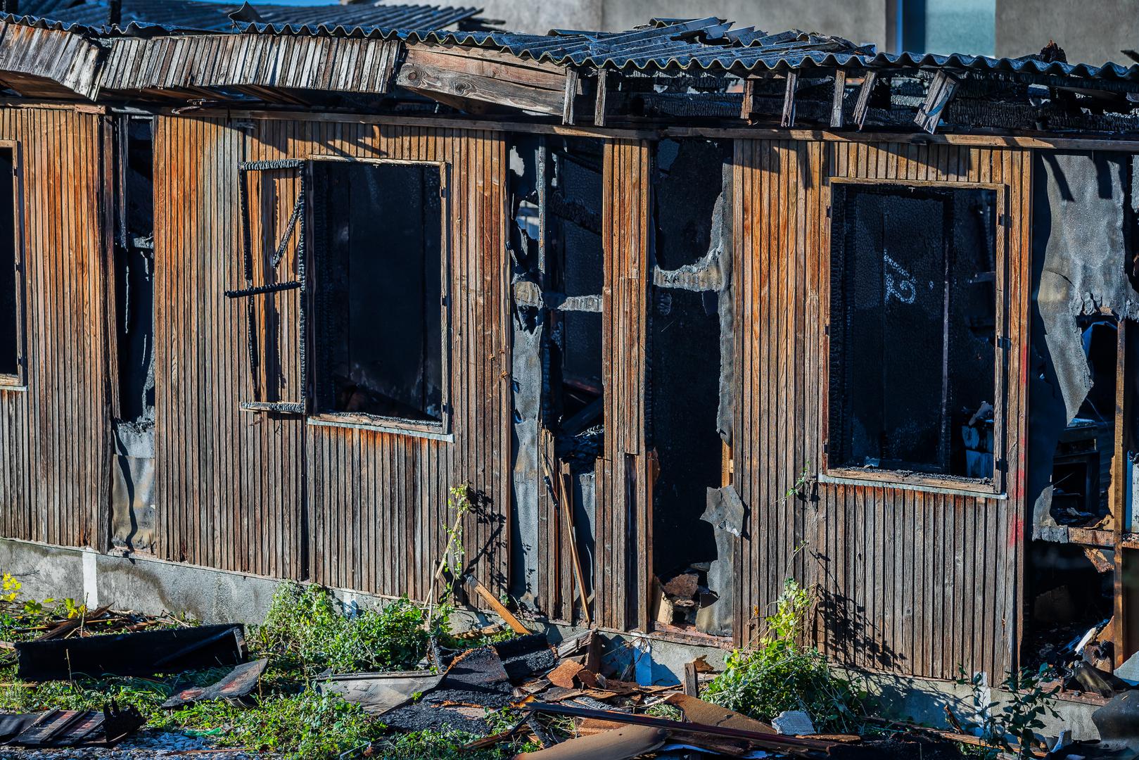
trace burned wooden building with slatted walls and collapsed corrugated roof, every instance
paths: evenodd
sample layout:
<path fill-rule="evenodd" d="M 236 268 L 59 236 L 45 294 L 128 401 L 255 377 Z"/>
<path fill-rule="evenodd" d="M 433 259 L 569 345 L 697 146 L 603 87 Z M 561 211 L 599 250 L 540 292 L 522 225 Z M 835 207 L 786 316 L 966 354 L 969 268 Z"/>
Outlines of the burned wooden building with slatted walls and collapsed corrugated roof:
<path fill-rule="evenodd" d="M 3 537 L 425 599 L 462 488 L 551 622 L 1139 649 L 1139 67 L 233 26 L 0 26 Z"/>

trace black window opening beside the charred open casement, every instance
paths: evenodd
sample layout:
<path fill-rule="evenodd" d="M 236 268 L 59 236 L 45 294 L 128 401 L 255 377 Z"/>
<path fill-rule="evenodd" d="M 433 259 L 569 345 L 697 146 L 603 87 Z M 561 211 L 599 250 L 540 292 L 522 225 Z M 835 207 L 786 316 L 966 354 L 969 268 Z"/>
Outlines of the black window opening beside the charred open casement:
<path fill-rule="evenodd" d="M 312 163 L 314 410 L 440 425 L 439 164 Z"/>

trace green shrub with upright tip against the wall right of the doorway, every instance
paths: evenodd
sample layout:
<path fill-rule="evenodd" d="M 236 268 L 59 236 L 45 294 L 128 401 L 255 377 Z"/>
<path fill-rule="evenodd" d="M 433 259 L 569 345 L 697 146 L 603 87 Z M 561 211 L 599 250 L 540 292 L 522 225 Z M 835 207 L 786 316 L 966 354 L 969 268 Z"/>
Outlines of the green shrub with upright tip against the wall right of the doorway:
<path fill-rule="evenodd" d="M 801 644 L 812 604 L 808 590 L 787 580 L 759 648 L 729 654 L 723 672 L 700 696 L 759 720 L 805 710 L 819 730 L 850 730 L 857 722 L 858 695 L 849 681 L 831 673 L 818 649 Z"/>

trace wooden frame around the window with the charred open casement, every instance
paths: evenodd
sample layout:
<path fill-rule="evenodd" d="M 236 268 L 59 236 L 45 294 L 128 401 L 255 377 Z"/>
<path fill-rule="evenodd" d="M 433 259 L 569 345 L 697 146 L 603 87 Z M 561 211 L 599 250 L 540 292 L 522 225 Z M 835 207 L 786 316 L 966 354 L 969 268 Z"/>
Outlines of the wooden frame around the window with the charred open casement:
<path fill-rule="evenodd" d="M 440 357 L 441 377 L 442 377 L 442 399 L 439 422 L 419 422 L 412 419 L 404 419 L 402 417 L 386 417 L 383 415 L 368 415 L 361 412 L 352 411 L 312 411 L 309 415 L 309 422 L 313 425 L 329 425 L 329 426 L 349 426 L 359 427 L 364 430 L 376 430 L 385 433 L 394 433 L 402 435 L 411 435 L 418 438 L 428 439 L 449 439 L 452 435 L 451 424 L 452 424 L 452 409 L 451 409 L 451 228 L 448 223 L 449 209 L 450 209 L 450 177 L 449 166 L 445 161 L 415 161 L 407 158 L 357 158 L 349 156 L 334 156 L 334 155 L 311 155 L 306 160 L 305 171 L 308 173 L 309 187 L 314 187 L 312 169 L 318 163 L 355 163 L 355 164 L 403 164 L 412 166 L 435 166 L 439 169 L 439 181 L 440 181 L 440 262 L 441 262 L 441 293 L 442 300 L 440 303 L 440 320 L 442 328 L 442 357 Z M 304 214 L 306 216 L 306 235 L 312 236 L 316 228 L 313 219 L 313 205 L 311 202 L 311 196 L 305 201 Z M 311 267 L 319 271 L 320 262 L 317 261 L 317 248 L 312 245 L 312 240 L 306 240 L 305 247 L 310 251 L 310 263 Z M 318 277 L 319 283 L 319 277 Z M 306 301 L 306 310 L 313 319 L 313 327 L 316 328 L 316 320 L 320 319 L 314 309 L 313 300 L 316 297 L 314 288 L 319 285 L 306 286 L 303 297 Z M 314 340 L 317 329 L 309 330 L 309 345 L 306 346 L 308 356 L 311 357 L 313 363 L 317 361 L 317 357 L 320 354 L 316 351 Z M 309 389 L 306 394 L 310 399 L 310 404 L 316 403 L 317 395 L 316 390 L 316 375 L 319 371 L 314 366 L 310 368 L 308 373 Z"/>

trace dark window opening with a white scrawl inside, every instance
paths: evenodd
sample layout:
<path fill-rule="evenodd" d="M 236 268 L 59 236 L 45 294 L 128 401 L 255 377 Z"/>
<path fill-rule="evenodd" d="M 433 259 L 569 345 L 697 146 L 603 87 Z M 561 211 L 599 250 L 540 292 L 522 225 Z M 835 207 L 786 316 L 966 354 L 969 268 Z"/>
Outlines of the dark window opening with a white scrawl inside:
<path fill-rule="evenodd" d="M 997 194 L 835 183 L 831 467 L 993 476 Z"/>

